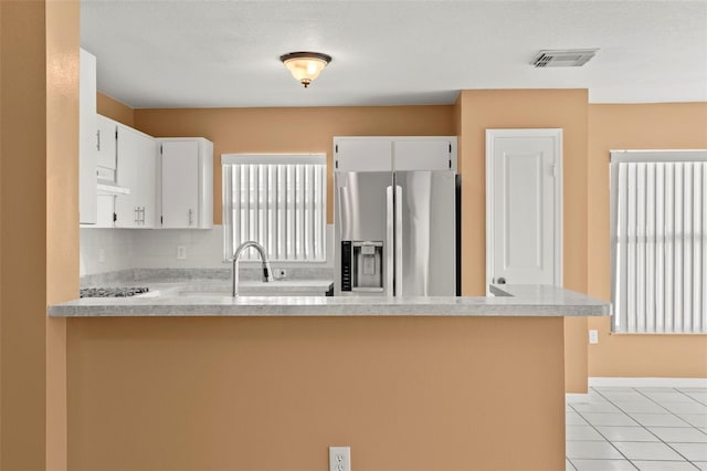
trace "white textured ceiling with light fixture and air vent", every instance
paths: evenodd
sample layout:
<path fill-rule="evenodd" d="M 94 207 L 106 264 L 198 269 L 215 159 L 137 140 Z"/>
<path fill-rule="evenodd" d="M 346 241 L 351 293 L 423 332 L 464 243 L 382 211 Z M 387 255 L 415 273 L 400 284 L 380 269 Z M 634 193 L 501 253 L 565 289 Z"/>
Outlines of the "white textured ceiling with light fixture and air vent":
<path fill-rule="evenodd" d="M 707 0 L 83 0 L 98 88 L 136 107 L 449 104 L 468 88 L 589 88 L 592 103 L 707 101 Z M 535 69 L 541 49 L 600 48 Z M 334 57 L 304 88 L 279 62 Z"/>

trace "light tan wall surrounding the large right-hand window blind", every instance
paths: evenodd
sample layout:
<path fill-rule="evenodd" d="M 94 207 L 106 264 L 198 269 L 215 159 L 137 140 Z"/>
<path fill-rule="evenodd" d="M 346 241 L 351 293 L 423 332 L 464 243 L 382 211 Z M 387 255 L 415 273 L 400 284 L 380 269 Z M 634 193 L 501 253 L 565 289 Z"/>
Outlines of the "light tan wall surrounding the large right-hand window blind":
<path fill-rule="evenodd" d="M 589 106 L 589 294 L 611 299 L 609 151 L 707 148 L 707 103 Z M 706 335 L 611 335 L 591 318 L 590 376 L 707 377 Z"/>

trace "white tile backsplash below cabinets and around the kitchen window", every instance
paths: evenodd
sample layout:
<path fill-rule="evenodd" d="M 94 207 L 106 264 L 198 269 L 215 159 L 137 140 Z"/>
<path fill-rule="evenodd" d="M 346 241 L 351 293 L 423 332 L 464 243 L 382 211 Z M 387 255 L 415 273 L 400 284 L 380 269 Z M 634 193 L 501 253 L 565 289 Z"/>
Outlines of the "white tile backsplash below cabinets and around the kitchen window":
<path fill-rule="evenodd" d="M 223 262 L 223 227 L 193 229 L 94 229 L 81 231 L 80 275 L 128 269 L 213 269 Z M 327 224 L 326 263 L 278 263 L 282 266 L 334 266 L 334 227 Z M 183 249 L 180 249 L 183 248 Z M 184 258 L 178 259 L 181 250 Z M 257 262 L 244 262 L 244 265 Z"/>

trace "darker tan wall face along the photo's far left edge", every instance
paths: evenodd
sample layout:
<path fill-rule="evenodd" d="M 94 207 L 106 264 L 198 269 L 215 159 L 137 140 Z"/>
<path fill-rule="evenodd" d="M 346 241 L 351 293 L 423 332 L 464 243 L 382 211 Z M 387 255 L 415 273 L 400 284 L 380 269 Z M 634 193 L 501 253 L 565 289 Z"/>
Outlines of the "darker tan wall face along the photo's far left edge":
<path fill-rule="evenodd" d="M 44 2 L 2 9 L 2 463 L 44 467 Z M 32 34 L 32 33 L 36 33 Z M 7 48 L 12 44 L 12 48 Z M 21 156 L 22 158 L 18 158 Z"/>

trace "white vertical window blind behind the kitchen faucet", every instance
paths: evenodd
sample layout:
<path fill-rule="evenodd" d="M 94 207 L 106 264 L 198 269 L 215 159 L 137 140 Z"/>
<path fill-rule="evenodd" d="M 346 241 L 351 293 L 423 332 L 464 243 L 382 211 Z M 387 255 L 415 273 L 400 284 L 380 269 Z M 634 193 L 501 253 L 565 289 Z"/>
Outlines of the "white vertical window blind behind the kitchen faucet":
<path fill-rule="evenodd" d="M 224 260 L 245 241 L 271 261 L 326 261 L 326 155 L 221 156 Z M 243 260 L 260 260 L 250 249 Z"/>

